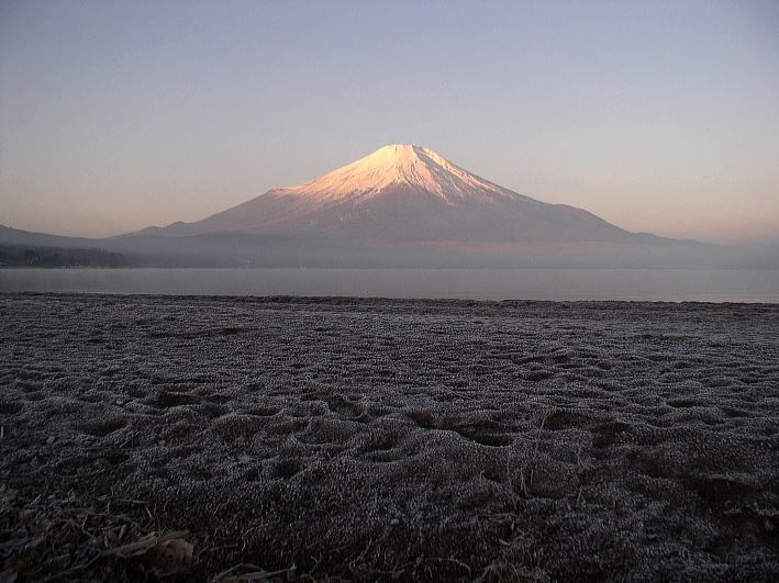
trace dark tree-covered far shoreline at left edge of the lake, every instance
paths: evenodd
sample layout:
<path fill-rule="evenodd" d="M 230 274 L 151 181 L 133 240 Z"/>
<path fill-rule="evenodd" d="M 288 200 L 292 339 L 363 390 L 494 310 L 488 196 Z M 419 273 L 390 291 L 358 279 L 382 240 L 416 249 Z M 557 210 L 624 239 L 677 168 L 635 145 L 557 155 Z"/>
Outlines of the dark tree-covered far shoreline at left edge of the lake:
<path fill-rule="evenodd" d="M 121 253 L 74 247 L 0 244 L 0 267 L 125 267 Z"/>

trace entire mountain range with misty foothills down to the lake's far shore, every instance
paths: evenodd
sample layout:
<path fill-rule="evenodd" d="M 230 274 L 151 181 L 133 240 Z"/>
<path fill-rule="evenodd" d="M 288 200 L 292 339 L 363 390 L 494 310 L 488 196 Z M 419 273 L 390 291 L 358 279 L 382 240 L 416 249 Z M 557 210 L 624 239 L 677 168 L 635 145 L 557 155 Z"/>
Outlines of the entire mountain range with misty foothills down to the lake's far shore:
<path fill-rule="evenodd" d="M 582 209 L 500 187 L 432 149 L 403 144 L 194 223 L 101 239 L 0 226 L 0 243 L 100 248 L 122 253 L 127 265 L 152 266 L 719 267 L 764 261 L 719 246 L 631 233 Z"/>

